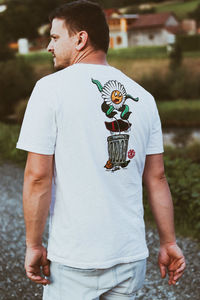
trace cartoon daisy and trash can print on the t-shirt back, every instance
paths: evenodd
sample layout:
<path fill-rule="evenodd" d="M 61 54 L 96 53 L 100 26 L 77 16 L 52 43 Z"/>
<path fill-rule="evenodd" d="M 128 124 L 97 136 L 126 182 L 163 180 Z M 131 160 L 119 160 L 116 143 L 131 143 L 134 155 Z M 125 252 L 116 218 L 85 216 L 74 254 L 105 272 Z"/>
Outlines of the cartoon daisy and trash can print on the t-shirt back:
<path fill-rule="evenodd" d="M 137 102 L 139 98 L 127 94 L 123 84 L 116 80 L 109 80 L 104 86 L 98 80 L 92 79 L 92 82 L 96 84 L 104 100 L 101 109 L 110 119 L 109 122 L 105 122 L 110 136 L 107 138 L 109 159 L 104 167 L 114 172 L 127 167 L 130 159 L 135 156 L 134 149 L 128 151 L 129 134 L 127 133 L 132 126 L 128 119 L 132 112 L 125 102 L 127 99 Z M 127 152 L 129 160 L 126 160 Z"/>

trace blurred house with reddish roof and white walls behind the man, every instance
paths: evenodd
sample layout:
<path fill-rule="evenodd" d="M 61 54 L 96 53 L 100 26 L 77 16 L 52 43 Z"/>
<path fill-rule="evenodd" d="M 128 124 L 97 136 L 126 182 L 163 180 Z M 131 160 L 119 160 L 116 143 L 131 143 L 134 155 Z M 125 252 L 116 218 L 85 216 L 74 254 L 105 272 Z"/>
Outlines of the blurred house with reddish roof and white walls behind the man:
<path fill-rule="evenodd" d="M 110 28 L 110 47 L 161 46 L 175 42 L 183 32 L 173 13 L 122 15 L 113 12 L 107 17 Z"/>

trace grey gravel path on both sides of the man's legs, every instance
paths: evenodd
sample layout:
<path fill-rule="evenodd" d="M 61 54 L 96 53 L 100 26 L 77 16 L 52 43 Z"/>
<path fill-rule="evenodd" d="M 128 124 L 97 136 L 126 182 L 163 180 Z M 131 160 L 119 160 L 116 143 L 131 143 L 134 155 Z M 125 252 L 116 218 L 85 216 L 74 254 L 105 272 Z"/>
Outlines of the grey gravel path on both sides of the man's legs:
<path fill-rule="evenodd" d="M 22 214 L 23 170 L 13 165 L 0 165 L 0 300 L 41 299 L 42 287 L 26 279 L 23 269 L 25 238 Z M 200 299 L 200 249 L 189 238 L 178 238 L 184 251 L 187 270 L 176 286 L 160 279 L 157 267 L 158 236 L 147 229 L 150 257 L 143 289 L 137 299 Z"/>

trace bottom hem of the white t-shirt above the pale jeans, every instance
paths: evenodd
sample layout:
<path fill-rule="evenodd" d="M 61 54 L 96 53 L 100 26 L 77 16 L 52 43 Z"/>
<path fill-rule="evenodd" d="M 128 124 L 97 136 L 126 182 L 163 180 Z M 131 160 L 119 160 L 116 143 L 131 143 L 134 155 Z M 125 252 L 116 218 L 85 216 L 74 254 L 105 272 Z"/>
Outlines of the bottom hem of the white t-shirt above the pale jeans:
<path fill-rule="evenodd" d="M 105 262 L 95 262 L 95 263 L 82 263 L 82 262 L 74 262 L 67 260 L 62 257 L 54 256 L 51 253 L 48 253 L 47 258 L 50 261 L 57 262 L 69 267 L 74 267 L 74 268 L 81 268 L 81 269 L 90 269 L 90 268 L 95 268 L 95 269 L 104 269 L 104 268 L 110 268 L 116 264 L 120 263 L 129 263 L 129 262 L 134 262 L 138 260 L 145 259 L 149 256 L 149 252 L 145 251 L 142 254 L 139 255 L 134 255 L 134 256 L 127 256 L 127 257 L 120 257 L 117 259 L 105 261 Z"/>

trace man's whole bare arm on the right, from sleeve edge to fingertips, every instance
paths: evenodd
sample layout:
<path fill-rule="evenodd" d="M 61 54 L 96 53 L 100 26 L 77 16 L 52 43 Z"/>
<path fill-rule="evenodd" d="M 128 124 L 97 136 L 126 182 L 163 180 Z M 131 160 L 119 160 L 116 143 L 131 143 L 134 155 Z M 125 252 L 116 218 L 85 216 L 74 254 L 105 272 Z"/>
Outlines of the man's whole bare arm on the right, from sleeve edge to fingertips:
<path fill-rule="evenodd" d="M 165 177 L 162 154 L 146 156 L 143 180 L 160 237 L 158 264 L 161 276 L 169 274 L 169 284 L 175 284 L 185 269 L 185 258 L 176 244 L 173 203 Z"/>

